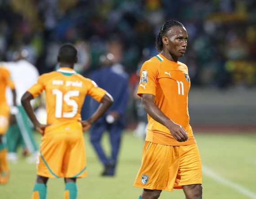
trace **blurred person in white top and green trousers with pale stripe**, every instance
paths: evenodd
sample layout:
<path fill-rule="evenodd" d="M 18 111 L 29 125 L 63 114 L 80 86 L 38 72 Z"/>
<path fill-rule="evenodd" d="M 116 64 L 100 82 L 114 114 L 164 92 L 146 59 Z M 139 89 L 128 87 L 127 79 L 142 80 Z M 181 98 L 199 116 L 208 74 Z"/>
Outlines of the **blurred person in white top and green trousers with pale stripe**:
<path fill-rule="evenodd" d="M 12 62 L 4 63 L 4 66 L 11 72 L 11 77 L 16 86 L 18 107 L 18 111 L 12 113 L 6 137 L 9 161 L 18 161 L 17 149 L 21 145 L 31 154 L 27 161 L 34 163 L 38 145 L 34 139 L 31 123 L 21 105 L 21 97 L 28 88 L 35 84 L 39 77 L 39 72 L 33 64 L 26 60 L 27 55 L 28 52 L 26 50 L 17 51 L 13 54 Z M 7 99 L 9 105 L 12 105 L 12 97 L 9 90 L 7 90 Z"/>

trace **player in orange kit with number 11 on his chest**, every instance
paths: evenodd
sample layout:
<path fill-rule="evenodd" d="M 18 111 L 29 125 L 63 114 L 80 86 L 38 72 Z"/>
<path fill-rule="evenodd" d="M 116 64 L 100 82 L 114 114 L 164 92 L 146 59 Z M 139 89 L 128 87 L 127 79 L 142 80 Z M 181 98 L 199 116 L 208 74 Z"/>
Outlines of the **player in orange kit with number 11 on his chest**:
<path fill-rule="evenodd" d="M 183 189 L 186 199 L 202 199 L 199 150 L 189 123 L 190 77 L 185 64 L 187 31 L 179 21 L 167 21 L 156 38 L 159 54 L 141 68 L 137 94 L 148 113 L 141 168 L 134 186 L 139 199 L 157 199 L 161 191 Z"/>

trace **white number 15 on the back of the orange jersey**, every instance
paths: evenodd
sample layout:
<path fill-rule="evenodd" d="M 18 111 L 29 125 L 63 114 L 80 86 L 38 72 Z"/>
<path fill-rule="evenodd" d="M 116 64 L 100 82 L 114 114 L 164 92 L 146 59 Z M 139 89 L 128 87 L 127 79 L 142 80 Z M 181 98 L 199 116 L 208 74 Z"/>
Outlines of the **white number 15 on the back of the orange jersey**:
<path fill-rule="evenodd" d="M 78 90 L 70 90 L 64 96 L 63 93 L 58 89 L 53 89 L 53 95 L 56 95 L 56 107 L 55 107 L 55 117 L 56 118 L 73 118 L 78 110 L 78 104 L 75 100 L 70 99 L 70 97 L 79 96 Z M 67 105 L 72 106 L 71 112 L 63 112 L 62 114 L 62 99 Z"/>

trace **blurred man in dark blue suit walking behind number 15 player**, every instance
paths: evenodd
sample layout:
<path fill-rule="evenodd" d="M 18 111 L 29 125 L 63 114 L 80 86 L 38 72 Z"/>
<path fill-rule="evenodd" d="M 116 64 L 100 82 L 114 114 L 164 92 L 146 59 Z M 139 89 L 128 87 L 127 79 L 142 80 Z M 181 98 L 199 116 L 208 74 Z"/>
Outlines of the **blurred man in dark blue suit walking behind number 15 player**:
<path fill-rule="evenodd" d="M 90 129 L 91 143 L 97 152 L 104 170 L 102 175 L 113 176 L 120 148 L 121 135 L 124 131 L 124 116 L 128 102 L 128 74 L 124 72 L 121 64 L 114 63 L 114 55 L 108 53 L 100 57 L 102 68 L 93 72 L 90 78 L 105 89 L 114 98 L 110 109 L 94 123 Z M 91 100 L 90 109 L 94 112 L 99 103 Z M 108 131 L 111 144 L 111 155 L 108 157 L 101 144 L 102 135 Z"/>

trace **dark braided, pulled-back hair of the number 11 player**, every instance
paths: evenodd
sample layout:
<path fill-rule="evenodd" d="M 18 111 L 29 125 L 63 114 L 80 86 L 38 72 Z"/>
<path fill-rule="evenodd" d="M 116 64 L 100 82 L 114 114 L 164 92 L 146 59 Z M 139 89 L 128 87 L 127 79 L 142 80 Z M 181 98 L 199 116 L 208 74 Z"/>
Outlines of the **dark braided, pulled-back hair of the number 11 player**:
<path fill-rule="evenodd" d="M 157 51 L 160 53 L 163 51 L 163 36 L 165 36 L 167 34 L 167 32 L 171 29 L 172 26 L 181 26 L 184 27 L 184 25 L 182 25 L 181 22 L 176 21 L 176 20 L 171 20 L 171 21 L 166 21 L 162 27 L 160 28 L 159 33 L 157 34 L 156 38 L 155 38 L 155 46 Z"/>

